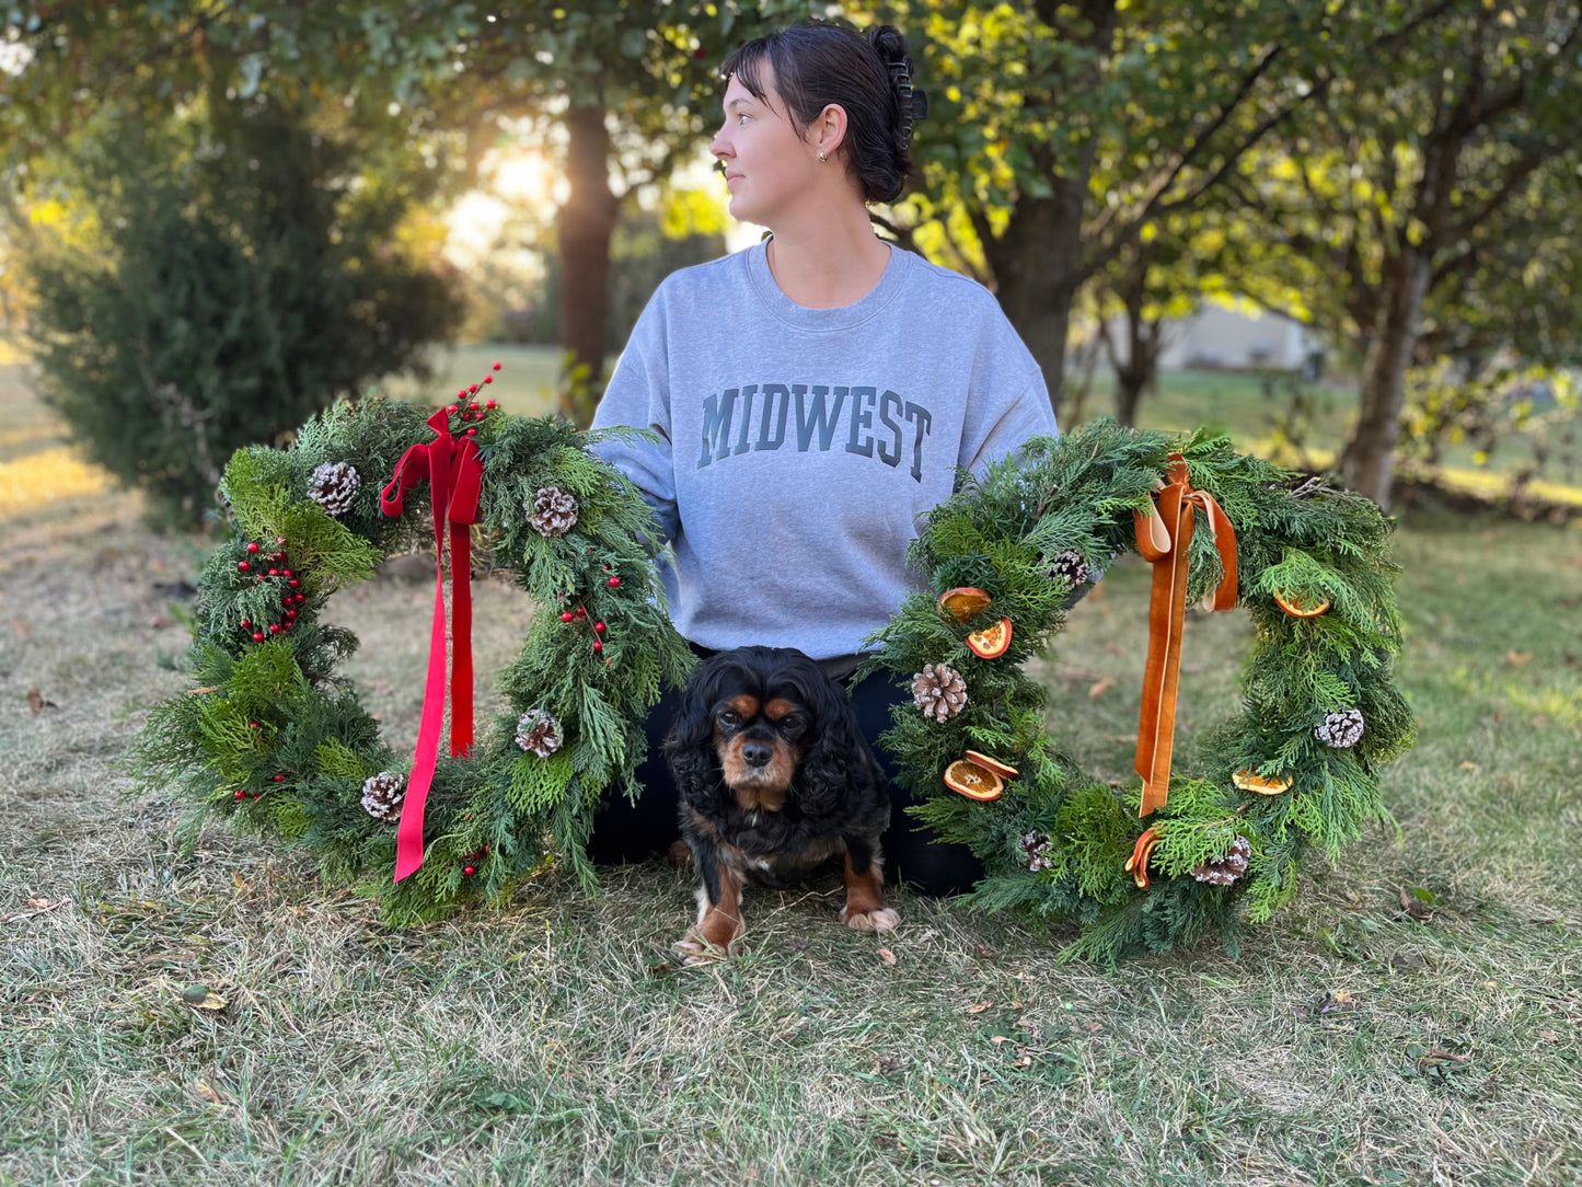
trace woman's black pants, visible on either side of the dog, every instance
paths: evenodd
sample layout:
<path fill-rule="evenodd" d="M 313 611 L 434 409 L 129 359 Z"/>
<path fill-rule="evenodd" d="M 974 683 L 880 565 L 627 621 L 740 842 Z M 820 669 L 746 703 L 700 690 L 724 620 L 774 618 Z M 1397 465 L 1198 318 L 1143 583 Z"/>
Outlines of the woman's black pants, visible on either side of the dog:
<path fill-rule="evenodd" d="M 694 650 L 704 654 L 702 649 Z M 892 706 L 911 703 L 911 693 L 892 684 L 888 673 L 875 673 L 856 687 L 848 682 L 848 687 L 857 725 L 869 742 L 889 730 Z M 679 706 L 680 690 L 671 690 L 649 714 L 645 725 L 649 757 L 638 768 L 642 794 L 636 804 L 619 791 L 606 796 L 593 820 L 593 837 L 589 842 L 589 856 L 593 861 L 600 864 L 644 861 L 664 853 L 680 840 L 676 782 L 660 750 Z M 878 745 L 873 747 L 873 753 L 891 779 L 891 826 L 883 842 L 886 878 L 891 882 L 905 878 L 933 897 L 971 889 L 984 875 L 982 863 L 965 845 L 932 840 L 929 831 L 905 812 L 913 799 L 894 780 L 895 757 Z"/>

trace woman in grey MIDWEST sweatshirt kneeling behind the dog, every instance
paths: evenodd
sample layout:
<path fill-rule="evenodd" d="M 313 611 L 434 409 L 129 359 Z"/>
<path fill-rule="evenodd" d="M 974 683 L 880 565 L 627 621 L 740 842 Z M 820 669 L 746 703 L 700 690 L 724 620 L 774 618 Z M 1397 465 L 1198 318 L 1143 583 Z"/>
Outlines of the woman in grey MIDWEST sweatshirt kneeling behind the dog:
<path fill-rule="evenodd" d="M 1055 419 L 993 296 L 873 234 L 867 204 L 900 196 L 925 106 L 902 35 L 786 28 L 721 74 L 725 123 L 709 147 L 731 214 L 770 236 L 660 285 L 593 426 L 660 437 L 600 453 L 658 514 L 677 630 L 701 654 L 799 647 L 842 679 L 918 586 L 906 544 L 957 468 L 981 473 Z M 853 701 L 872 741 L 910 693 L 873 676 Z M 650 717 L 645 791 L 636 807 L 612 798 L 595 859 L 677 837 L 658 755 L 672 715 L 668 698 Z M 971 853 L 930 844 L 895 798 L 886 867 L 929 894 L 970 888 L 982 874 Z"/>

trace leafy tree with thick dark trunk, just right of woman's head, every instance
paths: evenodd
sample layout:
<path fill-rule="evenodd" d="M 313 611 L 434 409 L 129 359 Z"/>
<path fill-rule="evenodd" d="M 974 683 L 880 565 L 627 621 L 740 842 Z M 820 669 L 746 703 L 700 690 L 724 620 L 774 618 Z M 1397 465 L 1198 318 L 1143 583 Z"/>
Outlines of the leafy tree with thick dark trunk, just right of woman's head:
<path fill-rule="evenodd" d="M 1193 210 L 1364 54 L 1448 8 L 911 0 L 938 97 L 918 242 L 979 261 L 1060 407 L 1073 304 L 1144 228 Z M 959 217 L 957 217 L 959 212 Z"/>

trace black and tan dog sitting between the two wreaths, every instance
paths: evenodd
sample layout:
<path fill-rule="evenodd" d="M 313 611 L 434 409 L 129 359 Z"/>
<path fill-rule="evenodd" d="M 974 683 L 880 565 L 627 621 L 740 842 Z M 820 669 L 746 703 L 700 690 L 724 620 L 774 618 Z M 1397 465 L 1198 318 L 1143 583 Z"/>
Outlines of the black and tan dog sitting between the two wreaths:
<path fill-rule="evenodd" d="M 857 931 L 889 931 L 880 836 L 891 804 L 846 695 L 789 647 L 739 647 L 704 660 L 664 739 L 680 826 L 702 889 L 679 942 L 690 962 L 742 937 L 742 886 L 789 885 L 845 855 Z"/>

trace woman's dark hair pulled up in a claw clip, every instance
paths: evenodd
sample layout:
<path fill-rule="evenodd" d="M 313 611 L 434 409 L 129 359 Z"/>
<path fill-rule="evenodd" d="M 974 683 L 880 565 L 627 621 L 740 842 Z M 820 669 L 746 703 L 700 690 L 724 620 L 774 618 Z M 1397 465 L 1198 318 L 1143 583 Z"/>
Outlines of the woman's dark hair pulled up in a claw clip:
<path fill-rule="evenodd" d="M 805 130 L 831 103 L 846 112 L 846 161 L 870 203 L 900 198 L 911 168 L 911 125 L 929 111 L 929 97 L 911 85 L 906 38 L 894 25 L 857 33 L 827 24 L 782 28 L 748 41 L 720 66 L 767 103 L 763 63 L 774 71 L 791 125 Z"/>

